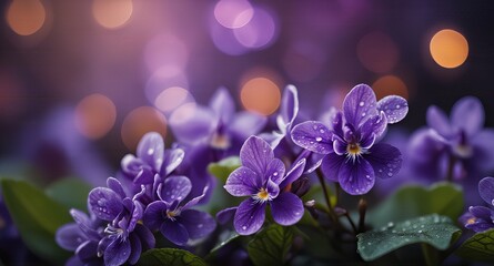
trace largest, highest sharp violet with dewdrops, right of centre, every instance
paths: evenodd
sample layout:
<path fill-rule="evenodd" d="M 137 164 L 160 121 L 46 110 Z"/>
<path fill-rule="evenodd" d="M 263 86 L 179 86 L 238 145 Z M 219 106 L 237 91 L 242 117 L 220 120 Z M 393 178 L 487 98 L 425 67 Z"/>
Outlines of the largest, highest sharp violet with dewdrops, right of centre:
<path fill-rule="evenodd" d="M 345 96 L 330 127 L 303 122 L 293 127 L 292 139 L 303 149 L 325 154 L 321 171 L 327 180 L 339 182 L 349 194 L 362 195 L 374 186 L 375 176 L 387 178 L 400 171 L 400 151 L 375 142 L 389 123 L 401 121 L 407 111 L 405 99 L 390 95 L 377 102 L 372 89 L 360 84 Z"/>

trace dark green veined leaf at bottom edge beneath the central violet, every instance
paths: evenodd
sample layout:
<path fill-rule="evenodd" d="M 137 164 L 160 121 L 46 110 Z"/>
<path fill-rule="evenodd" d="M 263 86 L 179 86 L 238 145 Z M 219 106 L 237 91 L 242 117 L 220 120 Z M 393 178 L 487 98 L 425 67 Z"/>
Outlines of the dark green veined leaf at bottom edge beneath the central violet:
<path fill-rule="evenodd" d="M 292 245 L 293 231 L 278 224 L 258 233 L 249 244 L 249 257 L 254 265 L 281 265 Z"/>

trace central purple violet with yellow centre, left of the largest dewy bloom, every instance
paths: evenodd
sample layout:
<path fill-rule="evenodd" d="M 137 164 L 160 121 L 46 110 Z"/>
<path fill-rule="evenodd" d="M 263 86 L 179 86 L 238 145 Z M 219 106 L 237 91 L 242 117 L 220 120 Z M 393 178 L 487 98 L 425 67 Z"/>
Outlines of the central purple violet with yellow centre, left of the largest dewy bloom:
<path fill-rule="evenodd" d="M 302 218 L 302 201 L 285 187 L 302 175 L 304 158 L 285 175 L 283 162 L 274 157 L 269 143 L 250 136 L 240 151 L 240 161 L 242 166 L 230 174 L 224 185 L 233 196 L 249 196 L 235 211 L 233 226 L 239 234 L 251 235 L 262 227 L 268 204 L 278 224 L 293 225 Z"/>

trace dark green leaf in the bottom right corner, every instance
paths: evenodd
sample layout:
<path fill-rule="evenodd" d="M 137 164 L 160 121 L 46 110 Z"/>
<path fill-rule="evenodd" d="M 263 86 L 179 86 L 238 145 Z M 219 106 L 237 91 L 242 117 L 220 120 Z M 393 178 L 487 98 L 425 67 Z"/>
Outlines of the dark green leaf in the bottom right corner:
<path fill-rule="evenodd" d="M 494 229 L 476 233 L 456 249 L 456 255 L 485 263 L 494 263 Z"/>

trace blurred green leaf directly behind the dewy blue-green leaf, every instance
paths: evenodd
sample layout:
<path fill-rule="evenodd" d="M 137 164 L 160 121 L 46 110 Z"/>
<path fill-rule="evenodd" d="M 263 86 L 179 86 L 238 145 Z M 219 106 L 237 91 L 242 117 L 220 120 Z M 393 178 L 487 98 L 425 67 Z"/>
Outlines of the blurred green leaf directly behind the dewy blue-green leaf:
<path fill-rule="evenodd" d="M 406 209 L 406 212 L 403 212 Z M 436 183 L 429 188 L 404 186 L 385 202 L 369 212 L 366 221 L 374 226 L 427 214 L 456 219 L 463 213 L 463 192 L 451 183 Z"/>

